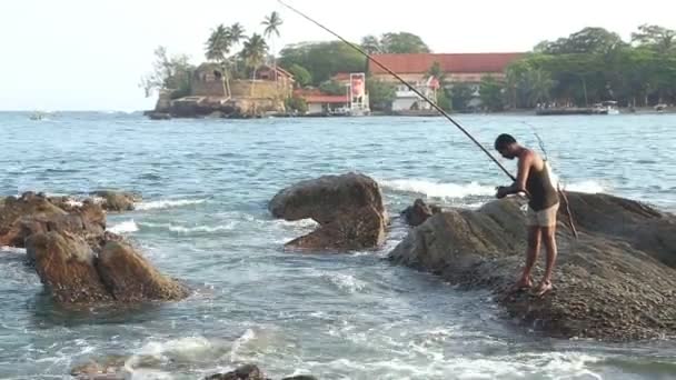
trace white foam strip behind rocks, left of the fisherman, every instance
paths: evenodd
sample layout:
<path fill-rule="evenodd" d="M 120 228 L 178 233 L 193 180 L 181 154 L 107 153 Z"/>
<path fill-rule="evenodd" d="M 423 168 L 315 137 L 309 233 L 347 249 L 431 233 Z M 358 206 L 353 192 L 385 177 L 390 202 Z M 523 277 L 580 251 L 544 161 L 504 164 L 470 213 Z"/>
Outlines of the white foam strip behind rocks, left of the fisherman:
<path fill-rule="evenodd" d="M 430 198 L 465 198 L 469 196 L 494 196 L 495 186 L 483 186 L 477 182 L 465 184 L 450 182 L 433 182 L 427 180 L 384 180 L 384 188 L 395 191 L 407 191 L 425 194 Z"/>

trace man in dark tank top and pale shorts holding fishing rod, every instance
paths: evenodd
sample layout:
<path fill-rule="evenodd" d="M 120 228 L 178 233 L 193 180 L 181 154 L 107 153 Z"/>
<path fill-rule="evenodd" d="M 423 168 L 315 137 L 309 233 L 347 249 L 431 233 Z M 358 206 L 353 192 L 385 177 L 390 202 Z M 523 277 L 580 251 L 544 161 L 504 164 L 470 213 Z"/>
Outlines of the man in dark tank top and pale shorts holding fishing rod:
<path fill-rule="evenodd" d="M 500 134 L 495 140 L 495 149 L 506 159 L 518 158 L 518 173 L 516 181 L 509 187 L 499 187 L 497 198 L 525 192 L 528 198 L 526 224 L 528 226 L 528 249 L 526 266 L 516 289 L 533 287 L 530 271 L 537 260 L 540 242 L 544 241 L 547 250 L 547 267 L 545 277 L 535 290 L 537 296 L 544 296 L 551 290 L 551 272 L 556 261 L 556 213 L 558 211 L 558 192 L 549 178 L 547 162 L 533 150 L 521 147 L 514 137 Z"/>

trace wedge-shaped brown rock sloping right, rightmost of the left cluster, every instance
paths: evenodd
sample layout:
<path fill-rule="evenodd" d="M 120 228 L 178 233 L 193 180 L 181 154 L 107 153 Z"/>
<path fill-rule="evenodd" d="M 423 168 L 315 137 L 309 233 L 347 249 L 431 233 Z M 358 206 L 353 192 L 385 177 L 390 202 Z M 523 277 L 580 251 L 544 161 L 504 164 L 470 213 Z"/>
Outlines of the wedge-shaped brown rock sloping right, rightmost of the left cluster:
<path fill-rule="evenodd" d="M 99 256 L 97 268 L 117 301 L 176 301 L 189 296 L 185 286 L 161 274 L 125 243 L 108 241 Z"/>

